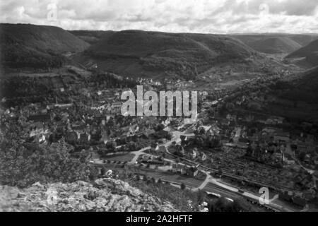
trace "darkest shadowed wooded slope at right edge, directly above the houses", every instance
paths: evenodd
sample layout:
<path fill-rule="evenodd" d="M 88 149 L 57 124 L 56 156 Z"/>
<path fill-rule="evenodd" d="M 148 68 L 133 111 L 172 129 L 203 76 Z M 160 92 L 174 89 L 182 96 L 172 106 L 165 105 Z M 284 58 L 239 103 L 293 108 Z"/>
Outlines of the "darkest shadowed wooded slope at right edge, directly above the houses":
<path fill-rule="evenodd" d="M 264 106 L 268 114 L 286 117 L 292 121 L 318 123 L 318 67 L 285 76 L 269 85 Z"/>

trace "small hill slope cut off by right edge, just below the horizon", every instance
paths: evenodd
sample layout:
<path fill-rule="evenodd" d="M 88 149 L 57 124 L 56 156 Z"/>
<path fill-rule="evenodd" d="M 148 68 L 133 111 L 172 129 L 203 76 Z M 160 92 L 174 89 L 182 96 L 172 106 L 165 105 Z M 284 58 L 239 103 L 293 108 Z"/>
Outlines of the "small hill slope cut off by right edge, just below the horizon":
<path fill-rule="evenodd" d="M 318 65 L 318 40 L 314 40 L 307 44 L 307 46 L 298 49 L 297 51 L 289 54 L 286 59 L 304 58 L 303 62 L 309 64 L 309 66 Z"/>

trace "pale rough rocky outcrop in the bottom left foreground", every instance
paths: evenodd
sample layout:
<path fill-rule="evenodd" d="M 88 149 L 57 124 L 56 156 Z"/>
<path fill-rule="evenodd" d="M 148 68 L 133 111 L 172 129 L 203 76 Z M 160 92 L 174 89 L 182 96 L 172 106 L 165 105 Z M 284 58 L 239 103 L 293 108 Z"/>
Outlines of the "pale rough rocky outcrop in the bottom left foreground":
<path fill-rule="evenodd" d="M 117 179 L 94 183 L 35 183 L 27 189 L 0 186 L 0 211 L 177 211 Z"/>

